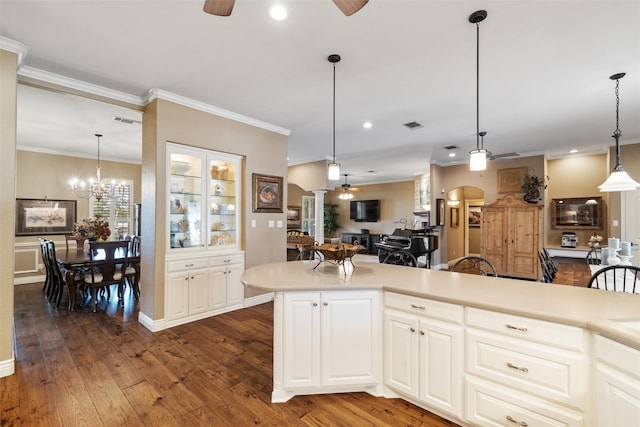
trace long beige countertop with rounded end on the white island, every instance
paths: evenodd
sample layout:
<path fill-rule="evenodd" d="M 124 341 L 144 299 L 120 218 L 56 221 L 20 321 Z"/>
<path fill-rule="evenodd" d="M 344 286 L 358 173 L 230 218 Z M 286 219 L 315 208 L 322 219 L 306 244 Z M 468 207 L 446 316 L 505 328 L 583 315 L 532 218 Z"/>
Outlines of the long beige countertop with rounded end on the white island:
<path fill-rule="evenodd" d="M 640 295 L 355 261 L 251 267 L 245 286 L 270 292 L 383 289 L 587 328 L 640 349 Z M 635 321 L 631 327 L 620 321 Z"/>

